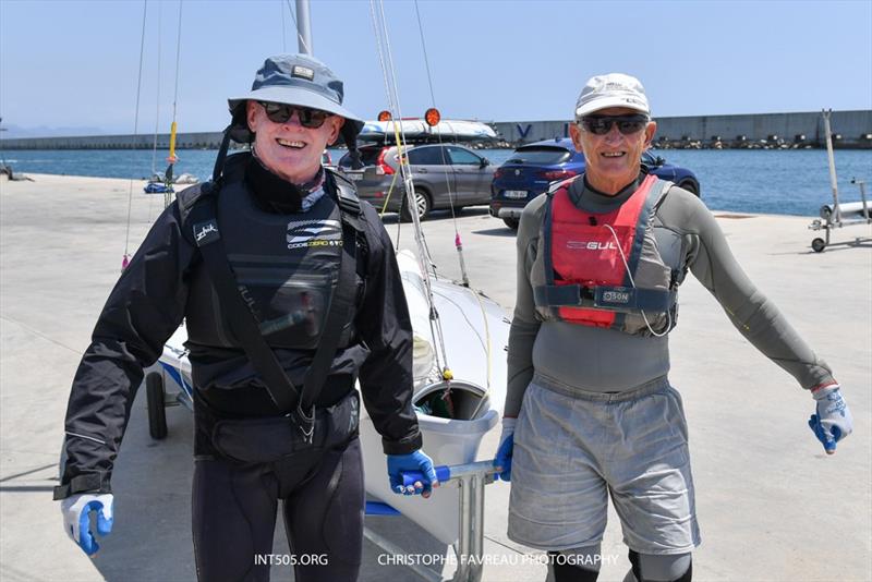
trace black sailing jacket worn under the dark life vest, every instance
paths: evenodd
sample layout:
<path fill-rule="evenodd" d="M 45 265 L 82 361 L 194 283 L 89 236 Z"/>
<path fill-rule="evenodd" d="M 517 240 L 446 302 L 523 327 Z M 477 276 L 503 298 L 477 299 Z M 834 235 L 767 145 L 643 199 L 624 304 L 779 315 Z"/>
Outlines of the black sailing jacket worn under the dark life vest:
<path fill-rule="evenodd" d="M 228 159 L 226 185 L 241 186 L 262 209 L 275 210 L 275 192 L 254 192 L 245 168 L 250 155 Z M 334 180 L 325 181 L 326 195 L 316 205 L 336 205 Z M 256 182 L 262 185 L 264 182 Z M 180 193 L 184 197 L 184 193 Z M 421 447 L 412 410 L 412 325 L 390 239 L 376 211 L 362 202 L 362 253 L 358 260 L 358 310 L 354 337 L 337 350 L 317 405 L 329 405 L 354 389 L 361 393 L 385 453 L 401 454 Z M 266 210 L 264 210 L 266 211 Z M 289 219 L 296 214 L 289 214 Z M 296 215 L 295 218 L 304 217 Z M 253 232 L 253 237 L 257 233 Z M 279 241 L 282 242 L 282 241 Z M 227 248 L 232 254 L 232 248 Z M 363 258 L 361 258 L 363 257 Z M 130 416 L 143 368 L 160 356 L 197 296 L 189 284 L 205 267 L 181 230 L 179 202 L 157 219 L 130 265 L 121 275 L 97 320 L 75 374 L 66 410 L 66 465 L 60 494 L 111 492 L 114 459 Z M 190 360 L 198 393 L 228 416 L 279 414 L 242 348 L 191 348 Z M 310 350 L 275 349 L 291 381 L 302 386 L 314 354 Z M 234 385 L 233 378 L 239 378 Z"/>

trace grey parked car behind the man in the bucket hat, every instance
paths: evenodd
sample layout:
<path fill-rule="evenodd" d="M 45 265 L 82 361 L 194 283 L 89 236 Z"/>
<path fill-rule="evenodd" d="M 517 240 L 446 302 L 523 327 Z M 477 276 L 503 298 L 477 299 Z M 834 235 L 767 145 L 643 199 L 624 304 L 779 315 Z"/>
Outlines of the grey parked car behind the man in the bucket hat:
<path fill-rule="evenodd" d="M 349 155 L 339 160 L 339 169 L 358 186 L 361 199 L 382 210 L 400 213 L 411 220 L 405 204 L 405 186 L 399 175 L 397 146 L 365 145 L 360 147 L 363 170 L 352 170 Z M 415 208 L 424 219 L 431 210 L 491 203 L 494 167 L 491 160 L 457 144 L 410 145 L 405 149 L 415 186 Z M 392 186 L 392 187 L 391 187 Z M 390 197 L 388 198 L 388 192 Z"/>

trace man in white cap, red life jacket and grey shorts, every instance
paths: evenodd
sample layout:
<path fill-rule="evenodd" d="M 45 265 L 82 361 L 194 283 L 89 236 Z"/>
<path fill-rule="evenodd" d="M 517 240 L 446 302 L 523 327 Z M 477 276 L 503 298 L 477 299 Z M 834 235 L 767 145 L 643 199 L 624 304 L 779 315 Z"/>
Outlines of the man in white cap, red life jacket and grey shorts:
<path fill-rule="evenodd" d="M 642 84 L 592 77 L 576 104 L 580 177 L 531 202 L 495 464 L 511 481 L 509 537 L 545 549 L 557 582 L 596 580 L 608 497 L 630 548 L 626 581 L 691 580 L 700 544 L 668 332 L 690 270 L 730 322 L 816 401 L 827 453 L 851 432 L 829 367 L 746 277 L 714 217 L 641 165 L 656 123 Z"/>

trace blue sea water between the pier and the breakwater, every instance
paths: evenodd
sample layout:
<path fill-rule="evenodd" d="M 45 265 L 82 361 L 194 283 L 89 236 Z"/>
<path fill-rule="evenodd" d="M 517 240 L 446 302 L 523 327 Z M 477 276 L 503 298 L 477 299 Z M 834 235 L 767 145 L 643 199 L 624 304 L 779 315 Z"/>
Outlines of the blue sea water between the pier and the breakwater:
<path fill-rule="evenodd" d="M 480 153 L 495 165 L 511 155 L 510 149 Z M 211 174 L 216 150 L 178 154 L 175 175 L 192 173 L 205 180 Z M 334 160 L 341 154 L 331 151 Z M 656 154 L 690 168 L 700 180 L 703 201 L 714 210 L 816 217 L 821 205 L 832 201 L 824 149 L 667 149 Z M 166 168 L 166 151 L 153 156 L 150 150 L 0 150 L 0 157 L 25 173 L 147 178 L 153 167 Z M 836 150 L 835 159 L 840 199 L 860 199 L 852 178 L 865 180 L 872 197 L 872 150 Z"/>

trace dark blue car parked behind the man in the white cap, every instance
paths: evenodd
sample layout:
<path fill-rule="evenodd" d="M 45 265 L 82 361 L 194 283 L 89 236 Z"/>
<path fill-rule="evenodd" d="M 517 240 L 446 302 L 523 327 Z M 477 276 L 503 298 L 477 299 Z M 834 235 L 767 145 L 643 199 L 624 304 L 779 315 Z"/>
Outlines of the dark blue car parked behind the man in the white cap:
<path fill-rule="evenodd" d="M 690 170 L 666 163 L 650 151 L 642 154 L 642 163 L 657 177 L 700 195 L 700 182 Z M 507 227 L 517 229 L 526 203 L 546 192 L 552 183 L 582 172 L 584 155 L 576 150 L 569 137 L 521 146 L 494 172 L 491 216 L 501 218 Z"/>

